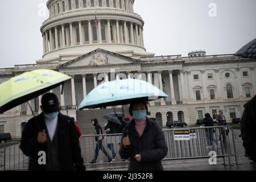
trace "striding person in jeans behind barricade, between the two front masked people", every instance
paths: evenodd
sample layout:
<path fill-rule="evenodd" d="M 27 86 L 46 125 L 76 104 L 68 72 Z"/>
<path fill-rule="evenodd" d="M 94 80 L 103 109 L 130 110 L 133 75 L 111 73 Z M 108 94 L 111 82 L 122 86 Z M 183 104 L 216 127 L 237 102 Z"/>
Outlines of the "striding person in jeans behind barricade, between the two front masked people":
<path fill-rule="evenodd" d="M 94 134 L 95 134 L 95 141 L 96 141 L 96 148 L 95 148 L 95 152 L 94 152 L 94 158 L 92 161 L 90 161 L 90 164 L 95 164 L 96 160 L 98 158 L 98 152 L 101 150 L 105 156 L 108 158 L 108 162 L 111 163 L 112 162 L 112 158 L 110 157 L 110 155 L 108 154 L 108 152 L 106 151 L 105 147 L 103 146 L 102 140 L 102 128 L 98 123 L 98 119 L 92 119 L 92 125 L 95 127 L 94 130 Z"/>

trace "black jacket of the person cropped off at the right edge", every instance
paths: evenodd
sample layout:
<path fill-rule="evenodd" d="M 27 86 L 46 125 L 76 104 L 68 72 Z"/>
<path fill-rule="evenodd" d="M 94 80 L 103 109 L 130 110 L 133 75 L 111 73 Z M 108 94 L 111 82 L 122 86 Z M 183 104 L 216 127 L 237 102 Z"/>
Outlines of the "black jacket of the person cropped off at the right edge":
<path fill-rule="evenodd" d="M 245 105 L 241 119 L 241 135 L 245 153 L 256 162 L 256 96 Z"/>

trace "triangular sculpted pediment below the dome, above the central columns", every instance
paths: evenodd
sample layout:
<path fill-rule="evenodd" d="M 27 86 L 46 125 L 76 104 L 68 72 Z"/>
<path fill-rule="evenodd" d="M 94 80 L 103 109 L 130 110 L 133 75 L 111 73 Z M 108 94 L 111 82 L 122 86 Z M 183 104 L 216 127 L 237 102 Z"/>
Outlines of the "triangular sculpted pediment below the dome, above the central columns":
<path fill-rule="evenodd" d="M 138 63 L 138 61 L 130 57 L 106 51 L 104 49 L 96 49 L 83 56 L 77 57 L 76 59 L 69 61 L 68 63 L 60 65 L 60 68 L 97 67 L 102 65 L 133 63 Z"/>

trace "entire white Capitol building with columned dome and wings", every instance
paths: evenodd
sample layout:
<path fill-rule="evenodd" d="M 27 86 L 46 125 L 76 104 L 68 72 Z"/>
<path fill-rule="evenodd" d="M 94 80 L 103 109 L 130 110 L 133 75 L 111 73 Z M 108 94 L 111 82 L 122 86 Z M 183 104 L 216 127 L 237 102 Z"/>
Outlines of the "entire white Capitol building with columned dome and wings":
<path fill-rule="evenodd" d="M 49 18 L 40 27 L 42 59 L 0 68 L 0 82 L 34 69 L 72 76 L 64 83 L 63 94 L 60 87 L 50 92 L 59 97 L 61 112 L 77 118 L 84 134 L 92 133 L 91 118 L 104 125 L 101 114 L 113 108 L 78 111 L 76 106 L 102 81 L 122 78 L 146 80 L 168 94 L 149 107 L 150 117 L 163 127 L 167 120 L 195 125 L 205 113 L 216 119 L 219 110 L 224 110 L 228 122 L 241 118 L 243 105 L 256 94 L 255 60 L 205 51 L 189 52 L 188 57 L 155 56 L 144 47 L 144 21 L 133 5 L 134 0 L 49 0 Z M 36 114 L 41 112 L 41 98 L 30 101 Z M 19 138 L 23 123 L 31 117 L 27 103 L 0 113 L 0 133 Z"/>

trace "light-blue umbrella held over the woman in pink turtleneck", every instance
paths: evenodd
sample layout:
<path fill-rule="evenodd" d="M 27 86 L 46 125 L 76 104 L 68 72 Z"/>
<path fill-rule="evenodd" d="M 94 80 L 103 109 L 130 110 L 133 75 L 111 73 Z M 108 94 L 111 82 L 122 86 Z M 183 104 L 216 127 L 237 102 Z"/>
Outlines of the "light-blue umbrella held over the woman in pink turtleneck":
<path fill-rule="evenodd" d="M 156 86 L 135 79 L 104 82 L 84 98 L 77 109 L 127 105 L 135 100 L 156 100 L 168 97 Z"/>

